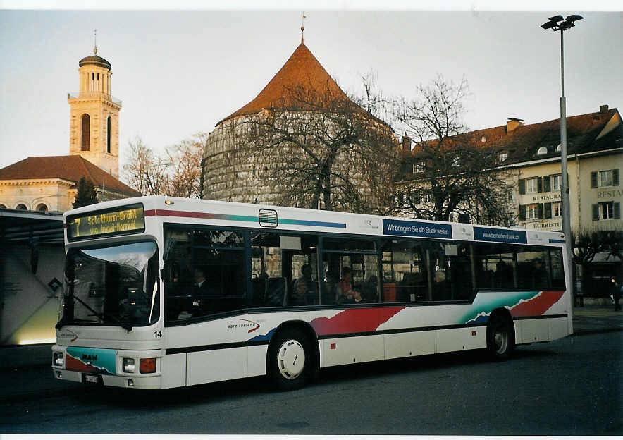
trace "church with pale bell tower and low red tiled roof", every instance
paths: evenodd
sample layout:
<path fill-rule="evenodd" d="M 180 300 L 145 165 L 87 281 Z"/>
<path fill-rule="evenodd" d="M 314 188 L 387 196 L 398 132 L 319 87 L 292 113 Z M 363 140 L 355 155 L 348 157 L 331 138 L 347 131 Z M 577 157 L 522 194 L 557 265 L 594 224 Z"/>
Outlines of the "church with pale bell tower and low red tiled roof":
<path fill-rule="evenodd" d="M 80 92 L 68 94 L 70 154 L 27 157 L 0 169 L 0 208 L 64 212 L 82 177 L 97 188 L 99 201 L 140 195 L 117 177 L 121 102 L 110 94 L 111 64 L 92 55 L 79 66 Z"/>

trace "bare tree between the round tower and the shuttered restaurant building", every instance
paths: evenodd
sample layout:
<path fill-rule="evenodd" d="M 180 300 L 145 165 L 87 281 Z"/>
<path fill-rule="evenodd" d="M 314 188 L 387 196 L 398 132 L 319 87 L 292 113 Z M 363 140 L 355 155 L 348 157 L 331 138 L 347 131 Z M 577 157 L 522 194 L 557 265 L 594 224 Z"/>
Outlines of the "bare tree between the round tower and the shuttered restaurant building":
<path fill-rule="evenodd" d="M 417 87 L 417 98 L 400 99 L 396 119 L 415 147 L 402 166 L 397 204 L 403 214 L 448 221 L 459 214 L 477 223 L 511 226 L 507 194 L 510 174 L 498 168 L 497 152 L 467 133 L 462 102 L 467 80 L 458 85 L 442 77 Z"/>

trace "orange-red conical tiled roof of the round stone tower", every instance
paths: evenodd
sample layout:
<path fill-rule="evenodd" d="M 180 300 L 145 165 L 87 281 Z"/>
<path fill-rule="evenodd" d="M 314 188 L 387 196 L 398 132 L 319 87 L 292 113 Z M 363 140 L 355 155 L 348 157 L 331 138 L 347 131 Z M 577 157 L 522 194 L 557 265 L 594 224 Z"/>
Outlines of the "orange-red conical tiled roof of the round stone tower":
<path fill-rule="evenodd" d="M 259 92 L 249 104 L 230 114 L 218 124 L 236 116 L 256 114 L 262 109 L 290 109 L 295 107 L 290 93 L 295 87 L 304 87 L 319 97 L 333 99 L 348 99 L 340 86 L 324 70 L 314 54 L 303 43 L 297 47 L 292 56 L 273 77 L 273 79 Z M 218 126 L 218 124 L 216 124 Z"/>

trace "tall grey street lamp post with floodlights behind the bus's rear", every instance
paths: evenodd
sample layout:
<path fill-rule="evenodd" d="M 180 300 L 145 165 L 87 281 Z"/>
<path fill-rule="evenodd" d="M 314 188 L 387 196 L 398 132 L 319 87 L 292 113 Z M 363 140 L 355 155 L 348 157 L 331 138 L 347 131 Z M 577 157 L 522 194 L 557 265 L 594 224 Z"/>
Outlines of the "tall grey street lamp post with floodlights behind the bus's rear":
<path fill-rule="evenodd" d="M 570 267 L 573 267 L 572 261 L 572 243 L 571 243 L 571 209 L 569 205 L 569 176 L 567 176 L 567 107 L 565 102 L 565 47 L 563 44 L 563 34 L 565 30 L 571 29 L 575 26 L 577 20 L 581 20 L 583 17 L 578 15 L 567 16 L 563 19 L 562 16 L 553 16 L 548 18 L 546 23 L 543 23 L 541 27 L 543 29 L 551 29 L 553 31 L 560 30 L 560 164 L 562 174 L 562 185 L 560 185 L 560 202 L 562 204 L 562 233 L 565 234 L 565 248 L 566 259 L 569 262 Z M 572 274 L 573 274 L 572 270 Z M 571 278 L 571 286 L 567 286 L 572 298 L 572 308 L 574 302 L 574 277 Z M 571 312 L 571 310 L 569 310 Z"/>

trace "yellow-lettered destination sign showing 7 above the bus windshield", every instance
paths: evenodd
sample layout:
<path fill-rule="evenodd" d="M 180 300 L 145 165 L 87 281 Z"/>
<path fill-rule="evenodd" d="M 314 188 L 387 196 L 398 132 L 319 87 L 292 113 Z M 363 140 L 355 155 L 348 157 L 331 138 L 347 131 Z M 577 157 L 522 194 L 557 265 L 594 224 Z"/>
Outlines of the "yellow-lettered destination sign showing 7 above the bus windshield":
<path fill-rule="evenodd" d="M 109 236 L 145 230 L 145 214 L 142 204 L 122 207 L 114 211 L 90 212 L 67 218 L 69 240 Z"/>

